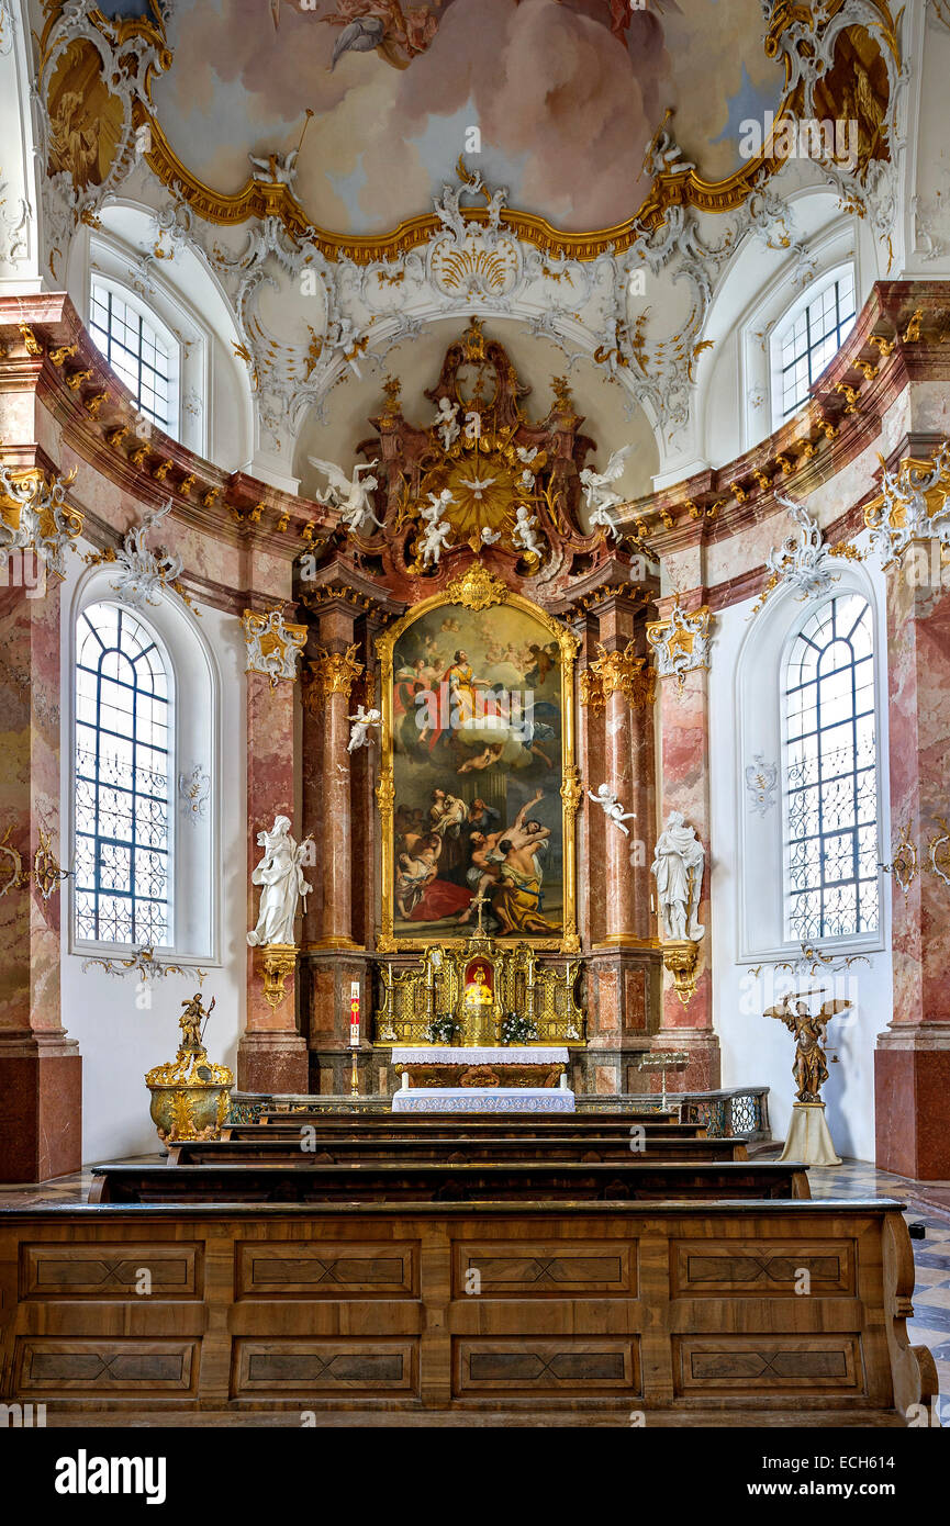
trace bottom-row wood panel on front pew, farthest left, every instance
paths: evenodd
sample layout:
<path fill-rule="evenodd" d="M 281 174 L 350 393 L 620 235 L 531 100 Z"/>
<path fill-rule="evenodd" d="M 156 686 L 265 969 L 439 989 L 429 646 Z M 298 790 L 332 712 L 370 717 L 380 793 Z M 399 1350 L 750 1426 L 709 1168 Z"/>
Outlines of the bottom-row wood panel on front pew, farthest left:
<path fill-rule="evenodd" d="M 197 1341 L 53 1340 L 17 1341 L 17 1392 L 52 1393 L 188 1393 L 197 1378 Z"/>

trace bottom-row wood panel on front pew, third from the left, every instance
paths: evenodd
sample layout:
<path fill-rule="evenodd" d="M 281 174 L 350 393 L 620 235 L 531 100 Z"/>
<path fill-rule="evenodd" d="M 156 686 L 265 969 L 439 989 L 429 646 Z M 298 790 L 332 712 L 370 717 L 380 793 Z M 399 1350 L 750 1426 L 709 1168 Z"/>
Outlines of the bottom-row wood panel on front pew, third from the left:
<path fill-rule="evenodd" d="M 452 1347 L 457 1396 L 640 1393 L 637 1337 L 458 1337 Z"/>

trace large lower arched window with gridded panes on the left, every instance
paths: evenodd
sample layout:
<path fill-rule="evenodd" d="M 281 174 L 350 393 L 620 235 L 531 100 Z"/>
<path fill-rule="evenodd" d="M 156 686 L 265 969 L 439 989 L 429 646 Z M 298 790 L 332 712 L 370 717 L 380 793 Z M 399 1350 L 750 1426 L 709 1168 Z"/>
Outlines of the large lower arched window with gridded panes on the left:
<path fill-rule="evenodd" d="M 95 603 L 79 615 L 75 679 L 75 937 L 170 945 L 170 664 L 137 615 Z"/>

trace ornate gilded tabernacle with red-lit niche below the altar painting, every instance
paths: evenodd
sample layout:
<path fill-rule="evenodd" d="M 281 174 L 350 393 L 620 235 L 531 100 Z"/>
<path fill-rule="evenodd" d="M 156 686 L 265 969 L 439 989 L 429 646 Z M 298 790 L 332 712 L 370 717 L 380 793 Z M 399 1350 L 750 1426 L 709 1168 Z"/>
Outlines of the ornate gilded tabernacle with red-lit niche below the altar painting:
<path fill-rule="evenodd" d="M 429 948 L 409 969 L 382 963 L 376 1042 L 493 1048 L 502 1042 L 502 1022 L 518 1018 L 527 1044 L 582 1045 L 583 1012 L 574 996 L 580 963 L 541 963 L 525 943 L 498 949 L 487 937 L 464 948 Z"/>

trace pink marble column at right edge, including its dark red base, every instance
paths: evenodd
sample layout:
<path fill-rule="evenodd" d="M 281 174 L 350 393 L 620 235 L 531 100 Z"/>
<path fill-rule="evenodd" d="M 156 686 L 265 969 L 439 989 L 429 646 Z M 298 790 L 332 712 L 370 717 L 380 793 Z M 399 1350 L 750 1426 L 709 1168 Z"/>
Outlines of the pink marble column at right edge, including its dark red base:
<path fill-rule="evenodd" d="M 927 548 L 930 549 L 930 548 Z M 890 844 L 918 855 L 907 890 L 892 877 L 893 1018 L 875 1053 L 877 1164 L 904 1177 L 950 1178 L 950 885 L 929 844 L 950 819 L 950 589 L 916 586 L 910 562 L 887 575 Z M 884 760 L 880 760 L 884 766 Z M 936 864 L 950 873 L 947 844 Z M 907 877 L 907 874 L 904 876 Z"/>

